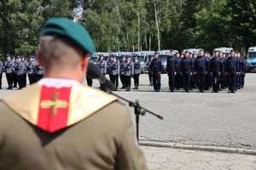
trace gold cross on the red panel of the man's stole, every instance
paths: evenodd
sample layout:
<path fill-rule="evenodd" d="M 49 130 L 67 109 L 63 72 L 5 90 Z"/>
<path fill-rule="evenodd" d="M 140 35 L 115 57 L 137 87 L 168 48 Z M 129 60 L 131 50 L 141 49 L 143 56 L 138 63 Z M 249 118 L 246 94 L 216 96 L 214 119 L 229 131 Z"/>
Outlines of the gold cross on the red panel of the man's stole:
<path fill-rule="evenodd" d="M 65 109 L 68 106 L 67 101 L 58 99 L 59 94 L 54 92 L 51 96 L 51 100 L 44 100 L 40 106 L 42 109 L 50 109 L 50 114 L 55 116 L 58 109 Z"/>

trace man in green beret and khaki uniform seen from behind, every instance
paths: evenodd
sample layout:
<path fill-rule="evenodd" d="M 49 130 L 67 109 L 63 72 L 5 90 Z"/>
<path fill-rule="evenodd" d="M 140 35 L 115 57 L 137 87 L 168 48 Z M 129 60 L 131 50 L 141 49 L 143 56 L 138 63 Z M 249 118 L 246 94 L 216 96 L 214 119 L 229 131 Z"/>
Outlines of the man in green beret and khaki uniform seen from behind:
<path fill-rule="evenodd" d="M 46 23 L 37 52 L 45 77 L 0 101 L 0 169 L 147 169 L 128 108 L 81 84 L 94 53 L 79 24 Z"/>

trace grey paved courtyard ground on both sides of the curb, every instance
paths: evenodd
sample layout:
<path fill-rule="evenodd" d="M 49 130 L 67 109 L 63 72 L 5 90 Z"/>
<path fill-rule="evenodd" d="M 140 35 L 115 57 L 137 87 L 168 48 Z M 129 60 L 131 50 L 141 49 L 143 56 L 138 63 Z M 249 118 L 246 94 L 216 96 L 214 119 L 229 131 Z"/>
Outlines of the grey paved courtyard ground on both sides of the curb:
<path fill-rule="evenodd" d="M 256 149 L 256 73 L 247 74 L 245 88 L 236 94 L 198 94 L 196 90 L 190 94 L 168 93 L 166 75 L 162 75 L 160 93 L 154 93 L 148 84 L 148 75 L 141 75 L 139 90 L 115 92 L 126 99 L 139 99 L 142 106 L 164 116 L 162 121 L 150 114 L 141 116 L 141 141 Z M 98 86 L 95 80 L 94 87 Z M 7 88 L 5 76 L 3 88 Z M 0 97 L 14 92 L 2 89 Z M 135 119 L 132 109 L 131 117 Z M 152 170 L 256 169 L 255 155 L 148 146 L 142 149 Z"/>

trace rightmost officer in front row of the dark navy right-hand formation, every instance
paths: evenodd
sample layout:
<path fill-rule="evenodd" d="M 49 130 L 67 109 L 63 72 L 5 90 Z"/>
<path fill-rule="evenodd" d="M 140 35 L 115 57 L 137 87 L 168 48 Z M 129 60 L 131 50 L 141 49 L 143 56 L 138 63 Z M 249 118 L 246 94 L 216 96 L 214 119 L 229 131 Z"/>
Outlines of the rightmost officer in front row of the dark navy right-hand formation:
<path fill-rule="evenodd" d="M 230 57 L 226 59 L 225 63 L 225 71 L 228 75 L 229 80 L 229 92 L 231 94 L 235 94 L 236 90 L 236 68 L 237 68 L 237 60 L 235 57 L 235 51 L 231 50 Z"/>

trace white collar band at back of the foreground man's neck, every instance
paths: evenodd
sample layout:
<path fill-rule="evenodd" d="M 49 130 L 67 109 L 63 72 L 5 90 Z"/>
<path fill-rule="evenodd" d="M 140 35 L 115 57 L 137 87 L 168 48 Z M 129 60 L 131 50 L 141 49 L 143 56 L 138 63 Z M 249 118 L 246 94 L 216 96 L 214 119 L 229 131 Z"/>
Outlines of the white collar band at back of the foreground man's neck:
<path fill-rule="evenodd" d="M 70 88 L 78 86 L 81 83 L 67 78 L 42 78 L 38 84 L 44 85 L 48 88 Z"/>

